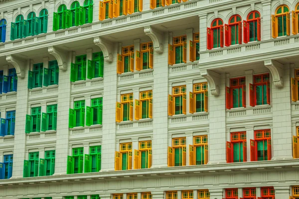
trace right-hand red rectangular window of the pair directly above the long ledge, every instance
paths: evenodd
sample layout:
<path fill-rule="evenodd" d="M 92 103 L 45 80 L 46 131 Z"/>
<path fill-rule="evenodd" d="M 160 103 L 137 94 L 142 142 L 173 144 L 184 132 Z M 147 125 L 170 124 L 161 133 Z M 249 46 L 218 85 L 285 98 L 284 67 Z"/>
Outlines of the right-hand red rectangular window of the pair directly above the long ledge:
<path fill-rule="evenodd" d="M 271 160 L 271 130 L 256 130 L 255 140 L 250 140 L 250 160 Z"/>

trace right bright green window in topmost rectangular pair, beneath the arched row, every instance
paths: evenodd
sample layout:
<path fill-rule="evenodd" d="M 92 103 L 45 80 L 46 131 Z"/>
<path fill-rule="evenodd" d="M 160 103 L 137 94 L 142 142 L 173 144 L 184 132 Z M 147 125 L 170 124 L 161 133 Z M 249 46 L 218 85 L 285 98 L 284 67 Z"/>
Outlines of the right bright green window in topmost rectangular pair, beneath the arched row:
<path fill-rule="evenodd" d="M 104 75 L 104 55 L 103 52 L 92 54 L 92 61 L 87 61 L 87 78 L 93 79 Z"/>

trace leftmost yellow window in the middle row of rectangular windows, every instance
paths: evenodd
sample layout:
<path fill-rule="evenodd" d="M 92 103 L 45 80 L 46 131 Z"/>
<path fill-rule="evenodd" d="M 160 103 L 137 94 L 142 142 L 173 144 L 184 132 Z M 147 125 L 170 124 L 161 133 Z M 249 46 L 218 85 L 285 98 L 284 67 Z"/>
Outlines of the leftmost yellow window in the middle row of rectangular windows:
<path fill-rule="evenodd" d="M 116 121 L 133 121 L 133 93 L 121 96 L 121 103 L 116 102 Z"/>

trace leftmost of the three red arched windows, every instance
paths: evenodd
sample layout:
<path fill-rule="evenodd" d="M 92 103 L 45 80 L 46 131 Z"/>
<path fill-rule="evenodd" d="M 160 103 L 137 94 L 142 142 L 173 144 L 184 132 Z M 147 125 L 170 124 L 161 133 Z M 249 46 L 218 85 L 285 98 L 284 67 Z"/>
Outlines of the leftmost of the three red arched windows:
<path fill-rule="evenodd" d="M 223 21 L 216 18 L 212 21 L 211 28 L 207 28 L 207 49 L 223 47 Z"/>

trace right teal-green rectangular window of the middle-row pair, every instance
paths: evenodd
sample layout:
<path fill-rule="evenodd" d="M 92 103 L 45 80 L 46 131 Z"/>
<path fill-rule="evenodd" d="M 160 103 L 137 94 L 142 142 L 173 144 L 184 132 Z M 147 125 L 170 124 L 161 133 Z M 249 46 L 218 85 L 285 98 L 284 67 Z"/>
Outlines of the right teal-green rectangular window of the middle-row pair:
<path fill-rule="evenodd" d="M 42 113 L 41 131 L 56 130 L 57 126 L 57 104 L 48 105 L 47 113 Z"/>

